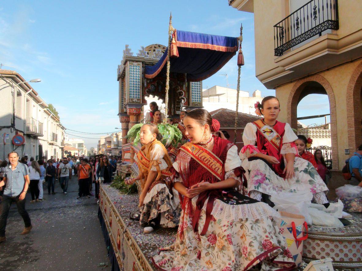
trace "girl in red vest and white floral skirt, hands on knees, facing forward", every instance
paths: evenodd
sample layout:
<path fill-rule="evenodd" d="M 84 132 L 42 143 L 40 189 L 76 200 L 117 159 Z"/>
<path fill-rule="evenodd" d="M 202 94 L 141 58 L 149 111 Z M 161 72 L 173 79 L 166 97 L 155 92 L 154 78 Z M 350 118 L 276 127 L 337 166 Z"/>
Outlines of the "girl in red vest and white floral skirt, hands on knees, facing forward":
<path fill-rule="evenodd" d="M 279 100 L 267 96 L 258 107 L 264 119 L 245 126 L 244 147 L 240 151 L 250 197 L 261 200 L 262 193 L 308 190 L 316 203 L 327 208 L 329 203 L 324 193 L 328 191 L 327 186 L 313 165 L 299 157 L 294 143 L 298 137 L 290 125 L 277 121 Z"/>

